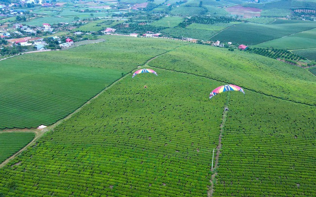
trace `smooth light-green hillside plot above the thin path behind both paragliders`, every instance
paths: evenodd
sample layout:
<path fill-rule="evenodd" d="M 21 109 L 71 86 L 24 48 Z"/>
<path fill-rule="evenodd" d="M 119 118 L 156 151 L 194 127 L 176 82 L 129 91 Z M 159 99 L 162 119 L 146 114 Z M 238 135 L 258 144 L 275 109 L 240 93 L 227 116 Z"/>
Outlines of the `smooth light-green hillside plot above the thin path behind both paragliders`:
<path fill-rule="evenodd" d="M 192 73 L 266 95 L 316 104 L 316 90 L 308 88 L 316 85 L 313 75 L 297 66 L 245 51 L 188 45 L 159 56 L 149 66 Z"/>

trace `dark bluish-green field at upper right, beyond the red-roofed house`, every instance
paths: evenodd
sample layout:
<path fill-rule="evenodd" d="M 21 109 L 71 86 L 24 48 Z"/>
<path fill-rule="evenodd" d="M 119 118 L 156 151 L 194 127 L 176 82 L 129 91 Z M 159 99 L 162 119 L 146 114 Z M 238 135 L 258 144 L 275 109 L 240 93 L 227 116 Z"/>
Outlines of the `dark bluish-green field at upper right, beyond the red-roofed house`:
<path fill-rule="evenodd" d="M 231 26 L 212 37 L 212 40 L 256 45 L 269 40 L 281 38 L 293 33 L 316 28 L 314 21 L 281 20 L 270 24 L 245 23 Z"/>

